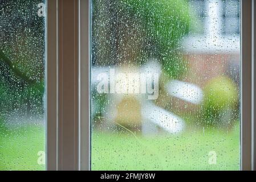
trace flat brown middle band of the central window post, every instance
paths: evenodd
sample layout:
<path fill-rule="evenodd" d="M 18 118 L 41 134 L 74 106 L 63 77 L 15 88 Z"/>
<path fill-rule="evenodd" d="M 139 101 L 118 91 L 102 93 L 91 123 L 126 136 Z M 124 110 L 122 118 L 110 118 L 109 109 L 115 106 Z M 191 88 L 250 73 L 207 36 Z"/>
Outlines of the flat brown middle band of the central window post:
<path fill-rule="evenodd" d="M 78 170 L 78 1 L 58 3 L 58 169 Z"/>

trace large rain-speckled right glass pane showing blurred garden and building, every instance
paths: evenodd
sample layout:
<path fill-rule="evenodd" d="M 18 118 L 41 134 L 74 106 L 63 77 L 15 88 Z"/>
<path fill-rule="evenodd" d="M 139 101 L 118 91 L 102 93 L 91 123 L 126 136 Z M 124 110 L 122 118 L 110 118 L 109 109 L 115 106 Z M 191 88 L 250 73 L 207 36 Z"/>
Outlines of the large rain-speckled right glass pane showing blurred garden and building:
<path fill-rule="evenodd" d="M 92 169 L 239 170 L 239 1 L 91 9 Z"/>

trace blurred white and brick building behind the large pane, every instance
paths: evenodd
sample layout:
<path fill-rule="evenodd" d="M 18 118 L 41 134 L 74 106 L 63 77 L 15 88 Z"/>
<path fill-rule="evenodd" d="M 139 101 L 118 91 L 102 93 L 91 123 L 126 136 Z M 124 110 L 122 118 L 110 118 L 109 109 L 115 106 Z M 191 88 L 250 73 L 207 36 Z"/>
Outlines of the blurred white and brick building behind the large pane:
<path fill-rule="evenodd" d="M 189 71 L 184 81 L 204 86 L 210 78 L 229 76 L 238 82 L 240 20 L 238 0 L 191 0 L 196 30 L 182 43 Z"/>

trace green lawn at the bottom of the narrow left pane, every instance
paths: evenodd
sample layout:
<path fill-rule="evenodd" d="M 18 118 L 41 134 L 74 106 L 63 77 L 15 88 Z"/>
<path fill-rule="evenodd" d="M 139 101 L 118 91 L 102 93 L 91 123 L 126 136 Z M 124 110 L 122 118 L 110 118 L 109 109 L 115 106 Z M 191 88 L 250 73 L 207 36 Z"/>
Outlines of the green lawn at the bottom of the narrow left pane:
<path fill-rule="evenodd" d="M 45 128 L 29 125 L 0 131 L 0 170 L 45 170 L 38 152 L 45 151 Z"/>

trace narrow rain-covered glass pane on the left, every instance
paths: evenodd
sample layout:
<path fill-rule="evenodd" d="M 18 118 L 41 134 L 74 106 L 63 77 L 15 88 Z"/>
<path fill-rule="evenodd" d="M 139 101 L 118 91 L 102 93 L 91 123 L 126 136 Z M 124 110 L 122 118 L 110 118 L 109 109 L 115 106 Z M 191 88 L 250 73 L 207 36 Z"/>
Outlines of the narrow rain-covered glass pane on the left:
<path fill-rule="evenodd" d="M 0 1 L 0 170 L 44 170 L 45 1 Z"/>

